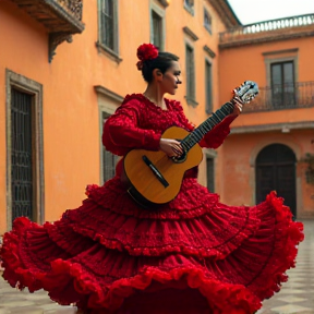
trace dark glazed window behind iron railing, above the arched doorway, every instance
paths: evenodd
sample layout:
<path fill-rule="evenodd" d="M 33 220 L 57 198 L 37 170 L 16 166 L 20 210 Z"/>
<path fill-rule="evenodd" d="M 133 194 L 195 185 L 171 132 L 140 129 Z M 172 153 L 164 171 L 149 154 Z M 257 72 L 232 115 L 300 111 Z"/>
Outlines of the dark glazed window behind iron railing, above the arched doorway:
<path fill-rule="evenodd" d="M 271 102 L 274 108 L 295 105 L 293 61 L 270 64 Z"/>

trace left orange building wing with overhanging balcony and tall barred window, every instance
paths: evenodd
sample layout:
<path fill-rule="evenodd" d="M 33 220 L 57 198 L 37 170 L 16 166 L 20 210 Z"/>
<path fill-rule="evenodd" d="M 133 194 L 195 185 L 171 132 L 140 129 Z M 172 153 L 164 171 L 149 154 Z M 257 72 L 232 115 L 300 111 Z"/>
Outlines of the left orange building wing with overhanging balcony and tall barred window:
<path fill-rule="evenodd" d="M 112 176 L 102 122 L 126 94 L 144 92 L 141 44 L 181 57 L 178 98 L 191 121 L 205 120 L 219 107 L 217 34 L 237 25 L 226 1 L 1 1 L 0 234 L 17 216 L 60 218 L 86 184 Z"/>

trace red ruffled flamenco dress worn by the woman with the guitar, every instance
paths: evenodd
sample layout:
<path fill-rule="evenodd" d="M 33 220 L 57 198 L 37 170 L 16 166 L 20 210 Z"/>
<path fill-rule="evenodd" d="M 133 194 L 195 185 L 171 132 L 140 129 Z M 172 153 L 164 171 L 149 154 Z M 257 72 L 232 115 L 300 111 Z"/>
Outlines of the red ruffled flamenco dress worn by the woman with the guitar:
<path fill-rule="evenodd" d="M 106 122 L 107 149 L 157 150 L 171 125 L 192 130 L 180 102 L 168 110 L 143 95 L 128 95 Z M 228 116 L 202 140 L 218 147 L 237 116 Z M 117 176 L 88 189 L 81 207 L 44 226 L 21 217 L 5 233 L 3 277 L 31 292 L 44 288 L 60 304 L 86 313 L 254 313 L 279 291 L 294 266 L 302 224 L 275 193 L 247 206 L 219 203 L 186 171 L 178 196 L 157 209 L 143 209 Z"/>

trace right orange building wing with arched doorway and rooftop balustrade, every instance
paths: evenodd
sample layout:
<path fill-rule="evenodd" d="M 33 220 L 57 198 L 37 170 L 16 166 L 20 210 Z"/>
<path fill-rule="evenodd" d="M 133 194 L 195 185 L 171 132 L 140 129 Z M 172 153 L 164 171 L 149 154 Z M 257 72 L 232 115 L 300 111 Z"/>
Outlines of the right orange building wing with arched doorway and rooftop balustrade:
<path fill-rule="evenodd" d="M 221 147 L 225 202 L 252 205 L 276 190 L 297 218 L 314 217 L 313 36 L 314 14 L 220 34 L 220 97 L 243 80 L 261 89 Z"/>

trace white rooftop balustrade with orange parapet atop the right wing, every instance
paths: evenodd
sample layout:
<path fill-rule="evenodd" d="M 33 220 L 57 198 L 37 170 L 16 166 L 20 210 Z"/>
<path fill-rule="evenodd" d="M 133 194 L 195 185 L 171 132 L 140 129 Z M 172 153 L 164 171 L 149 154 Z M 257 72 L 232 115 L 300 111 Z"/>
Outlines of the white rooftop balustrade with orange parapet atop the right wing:
<path fill-rule="evenodd" d="M 314 14 L 264 21 L 219 34 L 219 48 L 314 36 Z"/>

